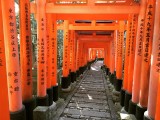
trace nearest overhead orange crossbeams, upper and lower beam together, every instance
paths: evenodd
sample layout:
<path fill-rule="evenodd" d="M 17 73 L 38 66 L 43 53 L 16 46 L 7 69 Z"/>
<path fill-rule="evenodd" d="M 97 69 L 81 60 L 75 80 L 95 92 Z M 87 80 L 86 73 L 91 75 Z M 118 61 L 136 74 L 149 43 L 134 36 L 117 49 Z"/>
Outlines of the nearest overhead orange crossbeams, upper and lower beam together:
<path fill-rule="evenodd" d="M 54 1 L 54 0 L 53 0 Z M 53 2 L 46 3 L 46 13 L 56 14 L 57 20 L 127 20 L 128 14 L 138 14 L 139 4 L 97 5 L 94 0 L 89 0 L 85 5 L 57 5 Z M 31 13 L 36 13 L 36 3 L 31 2 Z"/>

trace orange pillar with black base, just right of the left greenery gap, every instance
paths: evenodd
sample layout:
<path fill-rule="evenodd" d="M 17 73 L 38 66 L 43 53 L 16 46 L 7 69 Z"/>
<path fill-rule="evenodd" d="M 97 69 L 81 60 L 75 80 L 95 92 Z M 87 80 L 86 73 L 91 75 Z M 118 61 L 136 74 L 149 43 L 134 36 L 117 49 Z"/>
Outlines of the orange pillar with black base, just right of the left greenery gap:
<path fill-rule="evenodd" d="M 69 39 L 69 22 L 64 20 L 64 40 L 63 40 L 63 77 L 62 77 L 62 89 L 70 88 L 70 79 L 69 79 L 69 52 L 68 52 L 68 39 Z"/>

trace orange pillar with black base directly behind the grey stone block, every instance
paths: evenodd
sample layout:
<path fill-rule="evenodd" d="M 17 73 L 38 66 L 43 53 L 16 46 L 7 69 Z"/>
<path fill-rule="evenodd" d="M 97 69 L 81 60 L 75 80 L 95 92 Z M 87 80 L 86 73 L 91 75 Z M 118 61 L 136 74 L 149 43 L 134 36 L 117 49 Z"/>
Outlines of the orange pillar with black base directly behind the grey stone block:
<path fill-rule="evenodd" d="M 46 93 L 46 65 L 47 65 L 47 40 L 46 40 L 46 0 L 37 0 L 37 38 L 38 38 L 38 58 L 37 58 L 37 105 L 48 105 L 48 95 Z"/>

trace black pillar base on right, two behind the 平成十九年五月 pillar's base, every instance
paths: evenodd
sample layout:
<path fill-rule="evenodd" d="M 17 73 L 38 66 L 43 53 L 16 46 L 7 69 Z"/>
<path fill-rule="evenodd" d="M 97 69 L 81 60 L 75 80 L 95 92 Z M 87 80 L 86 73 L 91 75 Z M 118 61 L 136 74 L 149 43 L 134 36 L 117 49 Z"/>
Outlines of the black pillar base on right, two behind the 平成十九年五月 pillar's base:
<path fill-rule="evenodd" d="M 129 101 L 131 100 L 131 98 L 132 98 L 132 95 L 126 91 L 125 92 L 125 100 L 124 100 L 124 109 L 127 112 L 129 109 Z"/>

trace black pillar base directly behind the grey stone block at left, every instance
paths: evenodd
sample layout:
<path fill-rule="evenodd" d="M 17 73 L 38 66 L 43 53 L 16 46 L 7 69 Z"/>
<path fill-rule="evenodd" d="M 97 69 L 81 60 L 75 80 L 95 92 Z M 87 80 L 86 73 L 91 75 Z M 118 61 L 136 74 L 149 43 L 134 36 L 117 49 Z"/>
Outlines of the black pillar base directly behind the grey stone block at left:
<path fill-rule="evenodd" d="M 45 97 L 37 97 L 37 106 L 48 106 L 48 95 Z"/>

